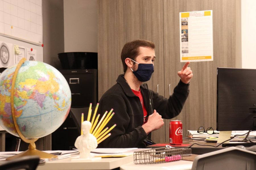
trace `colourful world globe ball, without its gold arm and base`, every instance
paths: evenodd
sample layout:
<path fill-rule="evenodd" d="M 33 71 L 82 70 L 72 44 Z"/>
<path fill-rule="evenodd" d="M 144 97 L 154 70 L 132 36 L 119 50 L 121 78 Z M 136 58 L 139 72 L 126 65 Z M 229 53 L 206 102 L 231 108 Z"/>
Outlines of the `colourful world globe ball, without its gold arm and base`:
<path fill-rule="evenodd" d="M 11 111 L 11 85 L 17 65 L 0 74 L 0 125 L 19 137 Z M 16 122 L 28 139 L 54 132 L 67 118 L 71 91 L 64 76 L 54 67 L 40 61 L 25 61 L 14 87 Z"/>

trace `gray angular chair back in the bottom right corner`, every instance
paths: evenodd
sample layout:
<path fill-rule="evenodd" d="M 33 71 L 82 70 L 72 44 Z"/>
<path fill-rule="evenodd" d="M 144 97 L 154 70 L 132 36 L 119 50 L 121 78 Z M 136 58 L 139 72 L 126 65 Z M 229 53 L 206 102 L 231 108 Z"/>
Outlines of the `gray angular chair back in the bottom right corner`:
<path fill-rule="evenodd" d="M 195 157 L 192 170 L 255 170 L 256 152 L 229 147 Z"/>

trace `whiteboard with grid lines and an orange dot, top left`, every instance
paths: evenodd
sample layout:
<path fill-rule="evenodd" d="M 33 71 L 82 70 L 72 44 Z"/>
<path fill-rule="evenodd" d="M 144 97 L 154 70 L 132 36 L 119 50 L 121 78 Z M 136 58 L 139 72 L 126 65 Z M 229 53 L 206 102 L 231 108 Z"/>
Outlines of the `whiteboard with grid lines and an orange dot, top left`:
<path fill-rule="evenodd" d="M 0 35 L 43 43 L 42 0 L 0 0 Z"/>

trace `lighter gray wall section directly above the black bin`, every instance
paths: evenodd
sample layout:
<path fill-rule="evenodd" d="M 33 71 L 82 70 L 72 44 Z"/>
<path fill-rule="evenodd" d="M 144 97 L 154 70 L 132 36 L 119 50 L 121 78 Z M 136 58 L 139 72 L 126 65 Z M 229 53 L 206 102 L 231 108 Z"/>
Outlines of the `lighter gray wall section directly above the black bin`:
<path fill-rule="evenodd" d="M 64 0 L 65 52 L 97 52 L 97 1 Z"/>

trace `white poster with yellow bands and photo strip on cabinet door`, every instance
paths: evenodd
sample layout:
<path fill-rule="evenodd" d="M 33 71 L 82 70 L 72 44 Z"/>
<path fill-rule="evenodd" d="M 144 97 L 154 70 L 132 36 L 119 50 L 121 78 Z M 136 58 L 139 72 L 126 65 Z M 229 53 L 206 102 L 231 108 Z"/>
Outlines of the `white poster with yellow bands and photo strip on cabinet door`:
<path fill-rule="evenodd" d="M 179 13 L 180 62 L 213 61 L 212 10 Z"/>

